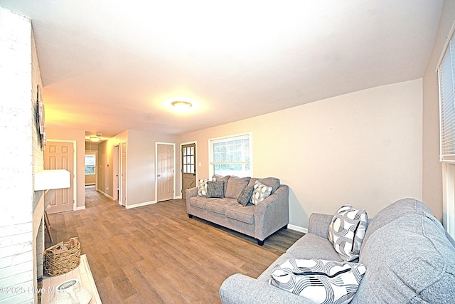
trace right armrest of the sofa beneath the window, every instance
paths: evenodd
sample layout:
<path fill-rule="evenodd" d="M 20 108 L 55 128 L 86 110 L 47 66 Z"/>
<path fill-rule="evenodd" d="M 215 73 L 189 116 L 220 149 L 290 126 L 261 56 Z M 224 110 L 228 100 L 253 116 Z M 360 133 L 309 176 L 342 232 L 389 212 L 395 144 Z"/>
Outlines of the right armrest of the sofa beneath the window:
<path fill-rule="evenodd" d="M 264 241 L 267 236 L 287 224 L 289 224 L 289 187 L 282 184 L 277 191 L 256 205 L 255 238 Z"/>

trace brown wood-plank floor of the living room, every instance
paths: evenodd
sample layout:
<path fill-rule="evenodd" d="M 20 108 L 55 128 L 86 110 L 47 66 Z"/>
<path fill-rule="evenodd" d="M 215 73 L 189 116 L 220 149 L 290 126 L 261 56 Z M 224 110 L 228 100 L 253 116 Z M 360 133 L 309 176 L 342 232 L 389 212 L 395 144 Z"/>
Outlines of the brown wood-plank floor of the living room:
<path fill-rule="evenodd" d="M 87 188 L 90 189 L 90 188 Z M 257 278 L 303 234 L 255 239 L 189 219 L 183 199 L 125 209 L 95 191 L 85 210 L 50 214 L 54 242 L 78 236 L 103 303 L 220 303 L 234 273 Z"/>

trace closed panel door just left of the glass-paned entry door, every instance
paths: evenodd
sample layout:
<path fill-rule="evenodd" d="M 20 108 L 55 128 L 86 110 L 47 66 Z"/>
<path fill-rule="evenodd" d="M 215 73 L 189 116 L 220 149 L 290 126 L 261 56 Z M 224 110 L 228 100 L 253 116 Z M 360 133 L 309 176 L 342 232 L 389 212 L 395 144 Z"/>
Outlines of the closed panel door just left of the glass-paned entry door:
<path fill-rule="evenodd" d="M 156 164 L 156 201 L 173 199 L 174 169 L 173 145 L 158 144 Z"/>

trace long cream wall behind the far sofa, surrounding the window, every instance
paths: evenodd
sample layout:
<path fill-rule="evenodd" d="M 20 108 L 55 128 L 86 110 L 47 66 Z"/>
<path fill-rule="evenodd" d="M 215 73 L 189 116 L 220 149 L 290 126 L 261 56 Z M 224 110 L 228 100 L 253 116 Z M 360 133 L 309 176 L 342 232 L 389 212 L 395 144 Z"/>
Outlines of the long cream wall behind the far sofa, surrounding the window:
<path fill-rule="evenodd" d="M 294 226 L 346 203 L 375 216 L 422 199 L 422 79 L 183 134 L 198 142 L 198 178 L 208 177 L 208 140 L 242 132 L 253 134 L 253 175 L 289 185 Z"/>

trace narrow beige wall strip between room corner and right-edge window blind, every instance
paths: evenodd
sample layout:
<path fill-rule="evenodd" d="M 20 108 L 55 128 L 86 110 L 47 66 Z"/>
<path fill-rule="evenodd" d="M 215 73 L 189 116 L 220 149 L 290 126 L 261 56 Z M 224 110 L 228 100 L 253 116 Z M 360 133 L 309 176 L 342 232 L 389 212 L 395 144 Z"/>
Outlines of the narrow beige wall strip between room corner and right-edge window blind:
<path fill-rule="evenodd" d="M 455 21 L 455 1 L 445 0 L 432 56 L 423 78 L 423 182 L 425 204 L 442 219 L 442 167 L 439 162 L 439 85 L 437 64 Z"/>

